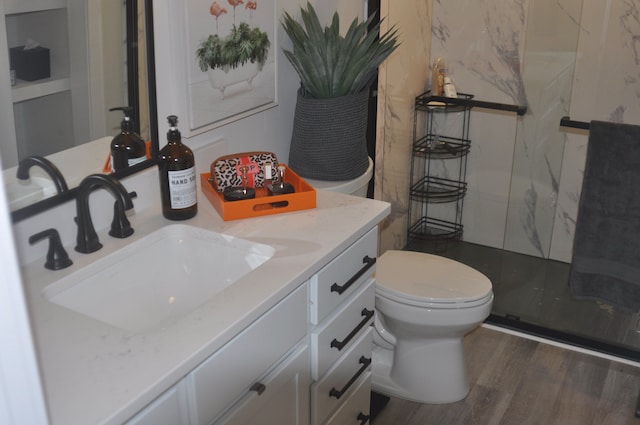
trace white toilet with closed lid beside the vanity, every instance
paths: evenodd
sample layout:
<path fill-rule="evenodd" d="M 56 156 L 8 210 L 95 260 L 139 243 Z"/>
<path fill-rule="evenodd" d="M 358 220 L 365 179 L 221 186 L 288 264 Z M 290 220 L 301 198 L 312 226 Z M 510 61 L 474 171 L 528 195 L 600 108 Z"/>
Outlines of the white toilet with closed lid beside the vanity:
<path fill-rule="evenodd" d="M 457 261 L 390 250 L 376 264 L 372 387 L 421 403 L 469 392 L 462 340 L 491 312 L 491 281 Z"/>

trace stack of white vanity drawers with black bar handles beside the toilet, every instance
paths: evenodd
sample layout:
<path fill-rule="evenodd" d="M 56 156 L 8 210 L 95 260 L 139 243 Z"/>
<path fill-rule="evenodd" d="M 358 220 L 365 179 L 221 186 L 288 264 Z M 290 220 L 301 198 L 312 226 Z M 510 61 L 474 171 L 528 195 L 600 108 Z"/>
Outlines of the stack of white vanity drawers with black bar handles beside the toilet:
<path fill-rule="evenodd" d="M 311 423 L 366 424 L 377 228 L 310 280 Z"/>

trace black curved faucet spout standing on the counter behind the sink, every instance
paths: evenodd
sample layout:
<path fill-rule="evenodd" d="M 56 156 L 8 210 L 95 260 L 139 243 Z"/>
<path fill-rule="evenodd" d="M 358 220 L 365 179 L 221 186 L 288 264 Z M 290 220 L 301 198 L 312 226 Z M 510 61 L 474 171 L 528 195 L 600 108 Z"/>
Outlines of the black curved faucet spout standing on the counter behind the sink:
<path fill-rule="evenodd" d="M 133 208 L 131 196 L 127 189 L 112 175 L 91 174 L 85 177 L 78 186 L 76 195 L 76 224 L 78 236 L 76 237 L 75 250 L 88 254 L 102 248 L 98 235 L 93 227 L 91 213 L 89 211 L 89 194 L 98 187 L 107 189 L 116 198 L 117 210 L 124 214 L 125 210 Z M 131 232 L 133 233 L 133 232 Z"/>

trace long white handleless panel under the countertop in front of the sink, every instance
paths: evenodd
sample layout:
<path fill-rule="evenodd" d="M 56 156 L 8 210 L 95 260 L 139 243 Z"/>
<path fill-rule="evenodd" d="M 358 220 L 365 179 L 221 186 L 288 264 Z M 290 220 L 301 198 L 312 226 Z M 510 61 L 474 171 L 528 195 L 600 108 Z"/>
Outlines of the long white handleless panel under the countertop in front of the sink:
<path fill-rule="evenodd" d="M 192 423 L 208 425 L 307 331 L 302 285 L 187 376 Z"/>

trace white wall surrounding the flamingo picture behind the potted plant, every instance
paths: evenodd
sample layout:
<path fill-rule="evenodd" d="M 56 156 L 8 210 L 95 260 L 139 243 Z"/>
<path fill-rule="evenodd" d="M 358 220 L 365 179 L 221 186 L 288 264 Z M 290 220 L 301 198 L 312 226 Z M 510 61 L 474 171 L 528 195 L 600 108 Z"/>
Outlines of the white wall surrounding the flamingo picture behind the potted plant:
<path fill-rule="evenodd" d="M 188 110 L 186 93 L 183 90 L 185 80 L 185 66 L 181 62 L 181 55 L 173 49 L 159 46 L 171 46 L 182 34 L 176 34 L 172 21 L 176 13 L 175 3 L 169 0 L 154 2 L 154 16 L 156 27 L 156 77 L 158 86 L 158 123 L 160 128 L 161 146 L 164 144 L 168 115 L 184 115 Z M 311 2 L 320 19 L 325 24 L 330 23 L 333 11 L 341 14 L 341 26 L 347 27 L 351 20 L 362 17 L 364 11 L 363 0 L 322 0 Z M 278 160 L 287 162 L 289 143 L 299 78 L 288 63 L 283 48 L 290 48 L 290 42 L 282 30 L 280 19 L 283 11 L 292 16 L 299 16 L 299 7 L 306 2 L 298 0 L 277 1 L 276 31 L 277 40 L 272 43 L 277 49 L 277 94 L 278 105 L 256 115 L 224 125 L 205 134 L 185 138 L 185 143 L 191 148 L 199 148 L 219 141 L 225 141 L 228 153 L 251 150 L 267 150 L 275 152 Z M 173 41 L 172 41 L 173 40 Z M 186 123 L 186 117 L 183 117 Z M 181 120 L 182 120 L 181 119 Z M 213 161 L 215 158 L 210 158 Z M 199 171 L 202 172 L 202 171 Z"/>

